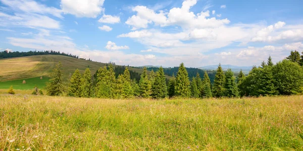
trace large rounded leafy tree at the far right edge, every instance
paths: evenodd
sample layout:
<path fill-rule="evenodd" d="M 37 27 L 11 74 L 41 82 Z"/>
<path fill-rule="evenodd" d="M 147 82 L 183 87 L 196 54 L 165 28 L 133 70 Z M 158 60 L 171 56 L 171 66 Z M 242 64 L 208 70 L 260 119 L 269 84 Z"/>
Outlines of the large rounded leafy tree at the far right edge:
<path fill-rule="evenodd" d="M 290 60 L 282 60 L 273 67 L 274 84 L 281 95 L 301 94 L 303 68 Z"/>

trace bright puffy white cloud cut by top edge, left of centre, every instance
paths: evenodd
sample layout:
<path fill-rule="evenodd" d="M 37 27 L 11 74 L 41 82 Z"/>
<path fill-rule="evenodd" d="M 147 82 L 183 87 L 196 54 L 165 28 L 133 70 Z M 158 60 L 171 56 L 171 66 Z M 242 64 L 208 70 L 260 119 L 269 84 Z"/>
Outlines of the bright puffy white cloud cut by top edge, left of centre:
<path fill-rule="evenodd" d="M 102 11 L 104 0 L 61 0 L 60 7 L 66 14 L 76 17 L 96 18 Z"/>

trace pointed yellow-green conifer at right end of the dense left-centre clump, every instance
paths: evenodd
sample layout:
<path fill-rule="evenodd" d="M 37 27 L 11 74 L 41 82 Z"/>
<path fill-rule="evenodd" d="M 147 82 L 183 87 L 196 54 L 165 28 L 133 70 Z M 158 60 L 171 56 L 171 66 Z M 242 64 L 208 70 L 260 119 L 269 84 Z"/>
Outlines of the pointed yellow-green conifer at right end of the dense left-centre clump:
<path fill-rule="evenodd" d="M 130 74 L 126 67 L 122 75 L 122 98 L 133 98 L 134 91 L 131 87 Z"/>

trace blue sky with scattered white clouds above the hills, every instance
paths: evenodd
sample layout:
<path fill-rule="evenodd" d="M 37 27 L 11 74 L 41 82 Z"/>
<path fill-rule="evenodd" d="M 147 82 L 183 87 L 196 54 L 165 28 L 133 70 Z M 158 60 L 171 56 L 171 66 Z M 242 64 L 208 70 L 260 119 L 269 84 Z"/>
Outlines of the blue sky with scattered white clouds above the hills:
<path fill-rule="evenodd" d="M 0 0 L 0 51 L 119 65 L 260 65 L 303 51 L 301 0 Z"/>

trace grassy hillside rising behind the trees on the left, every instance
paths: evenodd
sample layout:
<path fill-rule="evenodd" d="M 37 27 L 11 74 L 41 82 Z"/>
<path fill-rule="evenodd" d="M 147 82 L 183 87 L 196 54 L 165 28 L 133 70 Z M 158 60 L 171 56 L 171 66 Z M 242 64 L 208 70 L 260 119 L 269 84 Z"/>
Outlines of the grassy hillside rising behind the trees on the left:
<path fill-rule="evenodd" d="M 14 89 L 25 90 L 32 89 L 35 85 L 43 88 L 53 68 L 59 61 L 63 64 L 65 82 L 68 81 L 70 75 L 77 68 L 81 72 L 84 72 L 85 68 L 88 67 L 93 75 L 97 69 L 108 65 L 108 63 L 77 59 L 63 55 L 35 55 L 0 59 L 0 89 L 8 89 L 10 86 L 13 86 Z M 142 69 L 133 67 L 129 67 L 129 70 L 137 73 L 142 72 Z M 42 80 L 40 80 L 40 77 L 43 77 Z M 23 80 L 26 81 L 25 85 L 22 84 Z"/>

